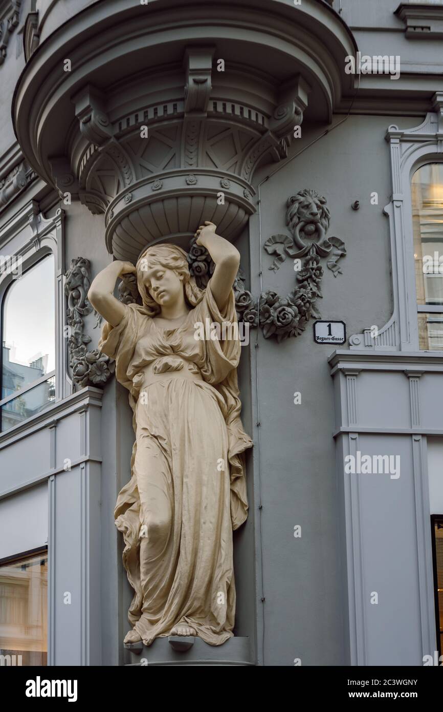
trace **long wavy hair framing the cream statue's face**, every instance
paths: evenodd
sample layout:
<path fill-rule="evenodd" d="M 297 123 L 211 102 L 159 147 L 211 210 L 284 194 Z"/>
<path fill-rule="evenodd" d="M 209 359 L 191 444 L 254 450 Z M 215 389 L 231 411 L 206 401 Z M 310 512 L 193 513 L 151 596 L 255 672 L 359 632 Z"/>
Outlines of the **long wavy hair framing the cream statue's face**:
<path fill-rule="evenodd" d="M 195 307 L 203 299 L 203 290 L 198 288 L 195 278 L 191 277 L 186 252 L 176 245 L 161 243 L 148 247 L 137 260 L 137 287 L 142 297 L 143 306 L 148 316 L 153 317 L 161 312 L 161 306 L 154 301 L 143 282 L 146 271 L 146 260 L 149 268 L 159 265 L 164 269 L 174 270 L 177 276 L 183 276 L 185 299 L 191 307 Z"/>

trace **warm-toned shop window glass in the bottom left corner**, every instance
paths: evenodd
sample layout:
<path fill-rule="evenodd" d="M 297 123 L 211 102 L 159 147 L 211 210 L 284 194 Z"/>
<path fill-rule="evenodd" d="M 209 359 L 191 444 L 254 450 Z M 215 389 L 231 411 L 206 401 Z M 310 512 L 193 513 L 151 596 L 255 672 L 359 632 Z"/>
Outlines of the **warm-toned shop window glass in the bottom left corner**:
<path fill-rule="evenodd" d="M 48 664 L 47 609 L 47 553 L 0 566 L 2 664 Z"/>

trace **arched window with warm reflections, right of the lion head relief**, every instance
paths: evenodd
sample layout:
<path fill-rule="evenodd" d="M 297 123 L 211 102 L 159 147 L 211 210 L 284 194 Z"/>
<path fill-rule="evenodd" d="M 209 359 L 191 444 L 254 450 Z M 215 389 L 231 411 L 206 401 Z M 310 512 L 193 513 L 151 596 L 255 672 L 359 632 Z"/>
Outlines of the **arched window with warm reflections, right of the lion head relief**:
<path fill-rule="evenodd" d="M 443 163 L 412 176 L 419 348 L 443 351 Z"/>

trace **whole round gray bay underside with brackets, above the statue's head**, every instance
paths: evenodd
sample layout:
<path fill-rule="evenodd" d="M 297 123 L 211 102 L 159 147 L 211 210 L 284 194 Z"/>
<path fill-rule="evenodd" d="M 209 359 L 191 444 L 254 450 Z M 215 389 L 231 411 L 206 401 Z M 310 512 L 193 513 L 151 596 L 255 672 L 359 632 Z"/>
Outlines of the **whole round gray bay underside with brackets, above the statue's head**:
<path fill-rule="evenodd" d="M 106 0 L 42 37 L 14 92 L 18 142 L 60 196 L 105 214 L 120 259 L 204 220 L 235 240 L 257 167 L 353 93 L 353 37 L 319 0 Z"/>

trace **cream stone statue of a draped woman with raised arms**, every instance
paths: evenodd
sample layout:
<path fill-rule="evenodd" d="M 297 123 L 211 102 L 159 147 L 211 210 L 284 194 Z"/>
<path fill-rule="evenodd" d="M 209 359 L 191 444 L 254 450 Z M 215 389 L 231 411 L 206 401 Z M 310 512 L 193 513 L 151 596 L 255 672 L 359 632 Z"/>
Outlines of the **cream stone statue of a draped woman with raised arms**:
<path fill-rule="evenodd" d="M 115 359 L 134 412 L 132 477 L 115 508 L 135 591 L 126 643 L 175 634 L 220 645 L 233 635 L 233 530 L 247 517 L 243 453 L 252 442 L 240 422 L 240 342 L 198 334 L 206 320 L 235 324 L 240 256 L 212 223 L 196 237 L 215 263 L 206 290 L 186 253 L 160 244 L 136 267 L 112 262 L 88 293 L 107 320 L 100 350 Z M 117 277 L 131 272 L 142 306 L 113 296 Z"/>

